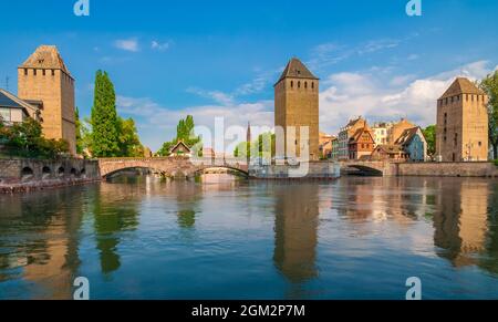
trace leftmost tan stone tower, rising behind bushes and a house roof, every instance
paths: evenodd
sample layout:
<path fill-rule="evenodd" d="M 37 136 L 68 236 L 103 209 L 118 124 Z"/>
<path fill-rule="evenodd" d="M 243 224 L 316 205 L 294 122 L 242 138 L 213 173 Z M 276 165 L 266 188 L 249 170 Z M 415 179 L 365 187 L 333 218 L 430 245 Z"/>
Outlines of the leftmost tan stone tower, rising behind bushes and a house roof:
<path fill-rule="evenodd" d="M 46 138 L 65 139 L 76 154 L 74 79 L 58 49 L 41 45 L 18 67 L 18 96 L 42 105 L 41 121 Z"/>

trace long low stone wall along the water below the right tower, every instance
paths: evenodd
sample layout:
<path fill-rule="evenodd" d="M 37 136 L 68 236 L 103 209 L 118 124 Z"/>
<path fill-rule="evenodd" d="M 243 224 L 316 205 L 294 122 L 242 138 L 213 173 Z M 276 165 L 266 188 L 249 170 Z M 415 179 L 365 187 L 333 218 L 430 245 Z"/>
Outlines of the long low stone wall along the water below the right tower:
<path fill-rule="evenodd" d="M 398 176 L 428 177 L 498 177 L 492 163 L 403 163 L 397 165 Z"/>

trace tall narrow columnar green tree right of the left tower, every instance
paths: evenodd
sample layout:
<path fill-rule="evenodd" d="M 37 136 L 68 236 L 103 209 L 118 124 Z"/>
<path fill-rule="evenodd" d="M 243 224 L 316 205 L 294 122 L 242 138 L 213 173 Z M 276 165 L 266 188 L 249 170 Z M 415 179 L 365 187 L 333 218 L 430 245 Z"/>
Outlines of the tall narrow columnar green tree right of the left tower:
<path fill-rule="evenodd" d="M 106 72 L 96 72 L 91 124 L 93 156 L 120 156 L 120 122 L 116 112 L 116 94 Z"/>

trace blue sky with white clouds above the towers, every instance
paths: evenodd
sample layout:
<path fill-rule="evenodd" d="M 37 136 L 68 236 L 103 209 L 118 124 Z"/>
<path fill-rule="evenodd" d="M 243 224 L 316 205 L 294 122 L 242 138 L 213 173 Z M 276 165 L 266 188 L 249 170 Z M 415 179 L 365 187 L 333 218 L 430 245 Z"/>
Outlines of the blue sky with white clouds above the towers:
<path fill-rule="evenodd" d="M 199 125 L 271 126 L 272 85 L 300 58 L 321 81 L 321 128 L 350 117 L 407 116 L 434 123 L 435 100 L 457 75 L 498 65 L 498 1 L 2 1 L 0 86 L 17 92 L 17 66 L 40 44 L 59 46 L 90 115 L 95 71 L 114 81 L 118 112 L 136 120 L 145 145 L 169 141 L 186 113 Z"/>

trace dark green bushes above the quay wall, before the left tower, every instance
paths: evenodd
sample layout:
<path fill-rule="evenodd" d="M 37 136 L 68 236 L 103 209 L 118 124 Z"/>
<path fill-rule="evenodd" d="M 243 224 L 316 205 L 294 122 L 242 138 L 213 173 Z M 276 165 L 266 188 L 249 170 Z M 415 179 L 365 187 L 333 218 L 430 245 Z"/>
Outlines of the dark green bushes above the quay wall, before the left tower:
<path fill-rule="evenodd" d="M 69 152 L 68 142 L 44 138 L 41 124 L 30 117 L 11 127 L 2 124 L 0 139 L 10 156 L 53 159 Z"/>

